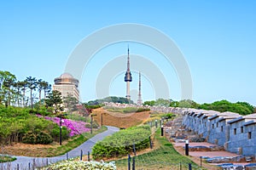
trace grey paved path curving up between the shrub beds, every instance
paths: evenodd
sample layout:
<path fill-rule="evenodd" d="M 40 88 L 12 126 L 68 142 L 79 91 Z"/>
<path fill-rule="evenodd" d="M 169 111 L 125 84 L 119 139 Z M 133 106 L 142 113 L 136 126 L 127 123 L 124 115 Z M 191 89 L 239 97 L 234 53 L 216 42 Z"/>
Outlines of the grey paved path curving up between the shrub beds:
<path fill-rule="evenodd" d="M 106 136 L 111 135 L 119 131 L 118 127 L 107 126 L 108 130 L 103 133 L 98 133 L 91 139 L 88 139 L 83 144 L 79 145 L 77 148 L 70 150 L 67 154 L 62 156 L 54 157 L 28 157 L 28 156 L 15 156 L 17 160 L 11 162 L 0 163 L 0 169 L 33 169 L 33 167 L 43 167 L 50 163 L 56 161 L 65 160 L 67 158 L 78 157 L 81 155 L 81 150 L 83 154 L 87 155 L 88 151 L 91 152 L 91 148 L 96 144 L 97 141 L 104 139 Z"/>

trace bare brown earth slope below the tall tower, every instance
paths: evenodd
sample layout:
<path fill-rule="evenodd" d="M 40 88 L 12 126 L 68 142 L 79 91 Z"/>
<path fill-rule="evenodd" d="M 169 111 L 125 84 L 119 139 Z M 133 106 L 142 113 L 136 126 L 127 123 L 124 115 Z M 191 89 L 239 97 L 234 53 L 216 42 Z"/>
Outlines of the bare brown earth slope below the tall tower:
<path fill-rule="evenodd" d="M 113 126 L 113 127 L 132 127 L 141 124 L 144 120 L 149 118 L 150 111 L 143 111 L 137 113 L 119 113 L 111 112 L 99 108 L 92 111 L 96 115 L 93 118 L 99 124 Z M 102 122 L 103 120 L 103 122 Z"/>

